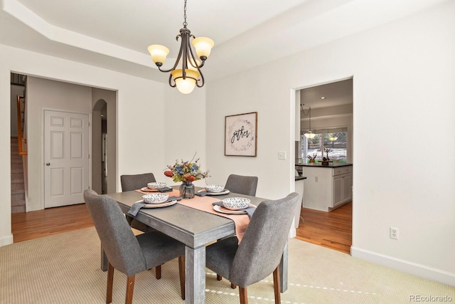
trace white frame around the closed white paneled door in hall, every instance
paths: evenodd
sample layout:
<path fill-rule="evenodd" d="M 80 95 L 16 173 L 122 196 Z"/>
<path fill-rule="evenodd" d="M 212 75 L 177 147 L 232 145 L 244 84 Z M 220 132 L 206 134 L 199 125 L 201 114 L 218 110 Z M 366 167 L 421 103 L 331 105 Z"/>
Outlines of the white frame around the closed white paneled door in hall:
<path fill-rule="evenodd" d="M 56 109 L 56 108 L 41 108 L 41 132 L 40 132 L 40 145 L 41 145 L 41 157 L 40 157 L 40 175 L 42 179 L 41 183 L 41 209 L 44 209 L 44 202 L 45 202 L 45 172 L 44 172 L 44 165 L 45 165 L 45 152 L 44 152 L 44 129 L 45 129 L 45 124 L 44 124 L 44 112 L 45 111 L 58 111 L 58 112 L 68 112 L 68 113 L 76 113 L 76 114 L 83 114 L 83 115 L 88 115 L 88 152 L 89 152 L 89 158 L 88 158 L 88 187 L 89 189 L 92 189 L 92 112 L 77 112 L 77 111 L 71 111 L 71 110 L 66 110 L 66 109 Z"/>

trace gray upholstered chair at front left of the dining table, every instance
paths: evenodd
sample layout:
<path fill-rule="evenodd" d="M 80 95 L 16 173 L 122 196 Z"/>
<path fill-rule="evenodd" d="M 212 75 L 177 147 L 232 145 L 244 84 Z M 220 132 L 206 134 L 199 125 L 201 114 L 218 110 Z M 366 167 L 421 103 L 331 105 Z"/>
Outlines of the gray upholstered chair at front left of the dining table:
<path fill-rule="evenodd" d="M 137 273 L 159 266 L 178 257 L 181 297 L 185 298 L 185 245 L 159 231 L 134 236 L 117 201 L 99 195 L 92 189 L 84 200 L 100 237 L 109 266 L 107 269 L 106 303 L 112 302 L 114 268 L 127 275 L 125 303 L 132 303 L 134 278 Z"/>

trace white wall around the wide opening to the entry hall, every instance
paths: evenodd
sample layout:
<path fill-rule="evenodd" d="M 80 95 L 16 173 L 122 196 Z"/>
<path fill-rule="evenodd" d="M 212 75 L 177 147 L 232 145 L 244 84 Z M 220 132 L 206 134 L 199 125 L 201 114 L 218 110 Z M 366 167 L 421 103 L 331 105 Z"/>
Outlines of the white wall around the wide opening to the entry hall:
<path fill-rule="evenodd" d="M 120 189 L 120 174 L 161 172 L 164 169 L 169 162 L 165 140 L 168 141 L 175 135 L 173 132 L 166 132 L 164 136 L 164 130 L 169 123 L 182 125 L 178 130 L 172 129 L 172 131 L 178 131 L 178 135 L 181 135 L 181 130 L 195 130 L 199 125 L 205 125 L 205 116 L 183 117 L 188 122 L 176 122 L 171 121 L 172 115 L 169 115 L 165 120 L 165 93 L 175 90 L 168 88 L 167 84 L 0 45 L 0 113 L 3 115 L 3 119 L 0 120 L 0 144 L 4 147 L 10 145 L 11 72 L 117 90 L 117 117 L 115 117 L 117 126 L 114 126 L 117 127 L 118 144 L 116 147 L 117 190 Z M 167 76 L 164 75 L 164 77 Z M 192 106 L 191 98 L 188 100 L 182 98 L 182 103 L 188 103 L 183 110 Z M 181 110 L 180 108 L 175 110 L 171 105 L 166 107 L 171 113 Z M 198 114 L 196 110 L 193 111 L 194 115 Z M 184 125 L 188 123 L 193 127 Z M 200 136 L 200 138 L 203 137 L 203 135 Z M 203 140 L 197 141 L 199 144 Z M 188 145 L 194 145 L 193 142 L 193 137 L 180 137 L 178 147 L 184 150 Z M 173 147 L 169 149 L 172 149 L 171 153 L 176 153 Z M 200 150 L 205 151 L 205 146 L 201 145 Z M 29 164 L 29 167 L 33 168 L 33 165 Z M 34 173 L 31 172 L 31 174 Z M 0 246 L 12 241 L 11 167 L 8 148 L 0 150 Z"/>

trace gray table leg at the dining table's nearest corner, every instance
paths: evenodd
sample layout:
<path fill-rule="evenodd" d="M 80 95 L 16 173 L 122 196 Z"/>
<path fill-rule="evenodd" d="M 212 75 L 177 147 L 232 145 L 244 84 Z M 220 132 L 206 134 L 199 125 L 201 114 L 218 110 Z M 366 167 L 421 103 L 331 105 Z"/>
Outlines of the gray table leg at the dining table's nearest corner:
<path fill-rule="evenodd" d="M 185 303 L 205 303 L 205 246 L 185 247 Z"/>

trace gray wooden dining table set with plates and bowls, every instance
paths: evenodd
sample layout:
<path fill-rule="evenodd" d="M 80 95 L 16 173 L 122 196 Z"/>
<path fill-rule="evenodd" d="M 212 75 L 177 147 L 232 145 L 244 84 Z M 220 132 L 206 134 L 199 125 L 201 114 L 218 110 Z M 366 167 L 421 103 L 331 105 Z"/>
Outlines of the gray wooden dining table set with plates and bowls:
<path fill-rule="evenodd" d="M 196 192 L 205 191 L 196 187 Z M 169 196 L 178 196 L 178 186 L 173 186 Z M 139 190 L 107 194 L 119 204 L 127 214 L 131 206 L 142 199 L 144 195 Z M 192 204 L 212 204 L 228 197 L 245 197 L 251 204 L 259 205 L 263 199 L 256 196 L 247 196 L 229 192 L 223 195 L 194 196 L 193 199 L 182 199 L 176 204 L 162 208 L 141 208 L 135 219 L 151 226 L 157 231 L 171 236 L 171 238 L 185 244 L 185 303 L 205 303 L 205 246 L 218 239 L 235 236 L 235 222 L 224 214 L 215 214 L 200 209 L 186 206 L 188 201 Z M 246 215 L 244 215 L 246 216 Z M 101 250 L 101 268 L 107 270 L 107 258 Z M 284 248 L 282 260 L 279 265 L 281 292 L 287 290 L 287 255 L 288 244 Z"/>

